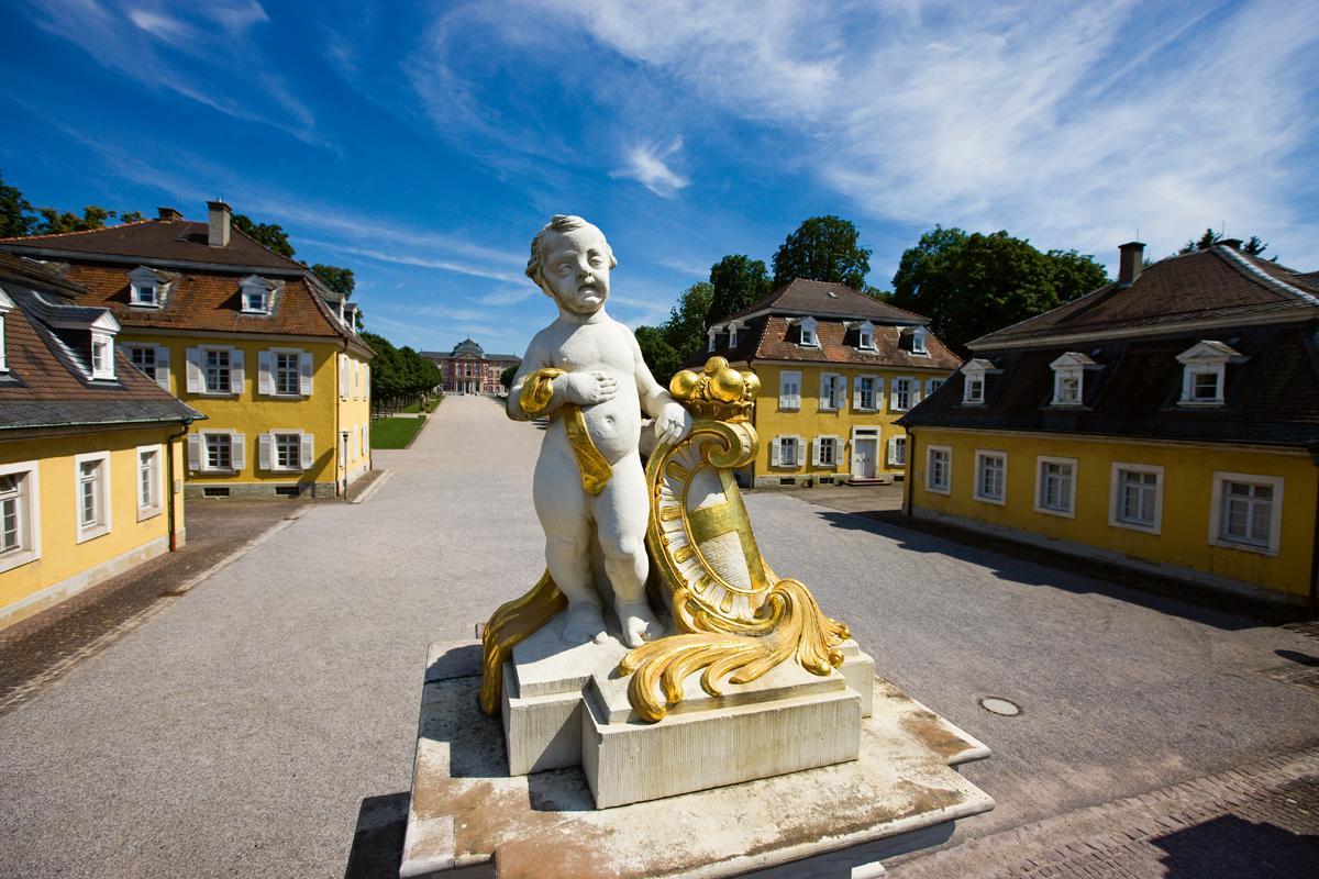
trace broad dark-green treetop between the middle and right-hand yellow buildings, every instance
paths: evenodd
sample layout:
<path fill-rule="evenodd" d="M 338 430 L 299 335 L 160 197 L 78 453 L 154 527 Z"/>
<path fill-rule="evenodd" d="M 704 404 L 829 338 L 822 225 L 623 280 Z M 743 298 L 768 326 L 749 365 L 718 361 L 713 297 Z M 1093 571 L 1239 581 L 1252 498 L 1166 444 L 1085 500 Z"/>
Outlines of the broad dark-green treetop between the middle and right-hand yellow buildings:
<path fill-rule="evenodd" d="M 960 351 L 977 336 L 1107 282 L 1104 266 L 1089 254 L 1041 253 L 1005 231 L 967 235 L 936 225 L 902 253 L 892 302 L 929 316 L 939 339 Z"/>

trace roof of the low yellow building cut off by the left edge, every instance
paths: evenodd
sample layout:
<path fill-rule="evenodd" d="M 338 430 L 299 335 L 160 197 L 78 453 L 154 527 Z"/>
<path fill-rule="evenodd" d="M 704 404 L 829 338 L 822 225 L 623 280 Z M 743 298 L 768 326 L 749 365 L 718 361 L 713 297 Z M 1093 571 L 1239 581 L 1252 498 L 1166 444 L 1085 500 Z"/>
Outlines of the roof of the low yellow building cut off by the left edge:
<path fill-rule="evenodd" d="M 46 320 L 91 323 L 99 308 L 74 306 L 49 270 L 0 260 L 0 287 L 13 300 L 5 315 L 7 373 L 0 373 L 0 431 L 22 427 L 190 422 L 204 418 L 140 373 L 116 345 L 113 381 L 90 377 L 86 354 Z"/>

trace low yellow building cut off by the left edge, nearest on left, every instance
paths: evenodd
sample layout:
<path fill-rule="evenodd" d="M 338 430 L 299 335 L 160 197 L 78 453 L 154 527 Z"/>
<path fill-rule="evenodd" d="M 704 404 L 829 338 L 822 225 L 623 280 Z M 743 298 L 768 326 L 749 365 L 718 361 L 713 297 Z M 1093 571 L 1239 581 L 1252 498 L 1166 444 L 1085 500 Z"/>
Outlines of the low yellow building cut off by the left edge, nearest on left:
<path fill-rule="evenodd" d="M 84 293 L 0 253 L 0 629 L 183 543 L 200 414 L 132 368 Z"/>

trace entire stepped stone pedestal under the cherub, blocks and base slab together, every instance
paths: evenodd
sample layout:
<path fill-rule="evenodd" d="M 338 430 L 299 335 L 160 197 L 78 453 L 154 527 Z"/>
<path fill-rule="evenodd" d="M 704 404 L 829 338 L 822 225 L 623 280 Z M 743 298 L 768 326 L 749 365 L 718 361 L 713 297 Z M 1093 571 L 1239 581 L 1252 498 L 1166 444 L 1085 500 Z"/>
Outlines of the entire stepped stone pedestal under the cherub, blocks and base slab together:
<path fill-rule="evenodd" d="M 525 655 L 534 652 L 529 648 Z M 512 759 L 513 745 L 505 751 L 499 721 L 476 706 L 480 646 L 434 644 L 422 692 L 401 876 L 640 879 L 768 871 L 768 878 L 778 875 L 773 868 L 780 865 L 789 865 L 785 876 L 849 876 L 863 865 L 871 866 L 868 875 L 877 875 L 874 862 L 942 842 L 955 820 L 985 812 L 993 801 L 951 768 L 988 756 L 988 749 L 882 679 L 873 679 L 863 700 L 853 687 L 857 667 L 867 664 L 863 656 L 857 651 L 851 669 L 816 679 L 811 693 L 794 697 L 810 708 L 778 700 L 786 712 L 782 717 L 797 717 L 807 726 L 814 722 L 810 729 L 819 730 L 822 741 L 835 742 L 827 745 L 836 747 L 832 756 L 845 754 L 849 743 L 824 730 L 823 717 L 830 710 L 842 713 L 844 706 L 848 717 L 859 717 L 871 701 L 873 714 L 859 723 L 855 759 L 801 771 L 783 768 L 785 775 L 741 783 L 736 783 L 737 768 L 699 763 L 692 767 L 698 774 L 727 772 L 727 779 L 708 781 L 723 787 L 596 808 L 586 764 L 510 774 L 505 754 Z M 522 689 L 509 695 L 504 714 L 506 729 L 524 735 L 517 759 L 526 767 L 571 759 L 566 742 L 576 710 L 578 729 L 601 738 L 595 792 L 620 789 L 623 784 L 608 778 L 601 766 L 621 767 L 636 745 L 629 737 L 638 734 L 633 727 L 640 725 L 623 716 L 625 696 L 621 704 L 617 700 L 616 688 L 623 681 L 611 681 L 612 668 L 561 676 L 561 681 L 580 680 L 578 708 L 568 709 L 570 700 L 555 698 L 565 693 L 539 689 L 559 684 L 549 684 L 554 675 L 536 673 L 534 662 L 514 675 Z M 762 679 L 757 684 L 761 691 L 741 692 L 720 708 L 719 713 L 732 720 L 702 722 L 708 706 L 690 705 L 660 725 L 646 725 L 678 731 L 652 733 L 654 738 L 645 747 L 661 752 L 671 747 L 675 756 L 690 758 L 708 749 L 706 733 L 720 738 L 723 722 L 737 729 L 731 741 L 744 752 L 757 752 L 748 758 L 753 763 L 789 767 L 791 760 L 758 754 L 774 751 L 778 746 L 770 739 L 780 733 L 761 733 L 769 729 L 772 714 L 766 712 L 774 710 L 768 706 L 776 701 L 756 701 L 752 693 L 790 688 L 793 681 Z M 553 720 L 555 710 L 559 721 Z M 703 735 L 692 737 L 690 730 L 698 729 Z M 586 737 L 579 731 L 578 738 Z M 630 764 L 633 771 L 644 771 L 636 755 Z M 658 781 L 641 784 L 661 796 L 667 791 L 662 784 L 654 787 Z M 802 859 L 810 859 L 810 866 L 790 863 Z"/>

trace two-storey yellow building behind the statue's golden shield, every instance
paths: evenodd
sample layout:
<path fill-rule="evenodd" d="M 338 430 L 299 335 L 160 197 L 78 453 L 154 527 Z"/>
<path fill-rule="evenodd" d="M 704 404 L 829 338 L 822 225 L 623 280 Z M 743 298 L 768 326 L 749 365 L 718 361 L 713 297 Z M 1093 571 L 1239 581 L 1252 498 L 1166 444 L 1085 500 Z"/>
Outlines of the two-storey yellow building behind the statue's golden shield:
<path fill-rule="evenodd" d="M 708 331 L 719 354 L 754 372 L 760 451 L 749 485 L 901 480 L 897 423 L 962 361 L 921 315 L 839 283 L 798 278 Z"/>

